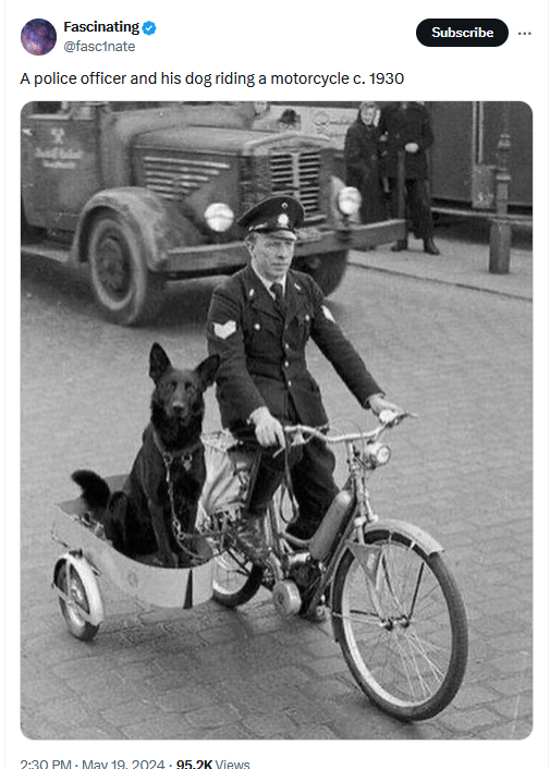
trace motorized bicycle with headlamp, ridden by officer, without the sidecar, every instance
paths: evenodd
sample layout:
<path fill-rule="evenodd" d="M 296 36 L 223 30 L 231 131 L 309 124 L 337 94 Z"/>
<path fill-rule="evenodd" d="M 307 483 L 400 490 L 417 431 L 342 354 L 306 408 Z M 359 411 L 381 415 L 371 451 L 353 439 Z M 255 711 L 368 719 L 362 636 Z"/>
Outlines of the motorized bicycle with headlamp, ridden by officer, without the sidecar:
<path fill-rule="evenodd" d="M 349 478 L 307 542 L 284 530 L 284 489 L 264 521 L 269 551 L 261 563 L 252 563 L 231 536 L 239 511 L 209 516 L 203 533 L 218 553 L 213 598 L 219 603 L 242 606 L 264 586 L 284 617 L 313 618 L 327 606 L 360 689 L 386 712 L 414 721 L 432 718 L 456 695 L 468 631 L 442 546 L 414 524 L 379 520 L 371 505 L 368 474 L 391 456 L 379 438 L 407 416 L 386 412 L 369 432 L 334 437 L 302 425 L 285 428 L 294 441 L 317 439 L 346 450 Z"/>

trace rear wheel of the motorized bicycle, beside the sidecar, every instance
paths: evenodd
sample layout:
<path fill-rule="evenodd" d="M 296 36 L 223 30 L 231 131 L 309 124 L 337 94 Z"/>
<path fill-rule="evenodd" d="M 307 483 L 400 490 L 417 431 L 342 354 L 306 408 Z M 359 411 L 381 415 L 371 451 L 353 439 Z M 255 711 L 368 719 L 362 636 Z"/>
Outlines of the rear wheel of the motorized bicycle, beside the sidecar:
<path fill-rule="evenodd" d="M 225 550 L 215 558 L 213 599 L 230 609 L 242 606 L 257 594 L 262 576 L 262 566 L 234 549 Z"/>

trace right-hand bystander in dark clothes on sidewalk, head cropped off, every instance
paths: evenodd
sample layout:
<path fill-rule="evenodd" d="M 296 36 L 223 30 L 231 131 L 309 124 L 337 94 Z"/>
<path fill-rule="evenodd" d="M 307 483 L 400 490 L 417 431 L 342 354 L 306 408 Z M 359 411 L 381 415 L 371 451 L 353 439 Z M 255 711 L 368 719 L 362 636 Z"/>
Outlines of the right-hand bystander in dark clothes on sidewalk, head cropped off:
<path fill-rule="evenodd" d="M 418 101 L 399 101 L 382 109 L 380 118 L 384 171 L 390 183 L 390 208 L 393 218 L 398 216 L 399 154 L 405 154 L 405 194 L 407 219 L 413 234 L 424 241 L 426 254 L 439 255 L 433 243 L 433 221 L 428 191 L 427 150 L 433 144 L 430 113 Z M 392 251 L 406 251 L 405 237 L 398 241 Z"/>

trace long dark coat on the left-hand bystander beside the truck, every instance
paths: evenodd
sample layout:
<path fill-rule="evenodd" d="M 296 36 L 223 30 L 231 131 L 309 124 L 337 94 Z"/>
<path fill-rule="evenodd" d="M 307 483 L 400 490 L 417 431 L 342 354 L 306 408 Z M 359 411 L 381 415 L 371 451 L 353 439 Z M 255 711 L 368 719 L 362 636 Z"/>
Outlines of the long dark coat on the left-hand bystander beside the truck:
<path fill-rule="evenodd" d="M 386 219 L 379 167 L 380 131 L 357 119 L 347 129 L 344 143 L 345 183 L 362 195 L 360 221 L 368 224 Z"/>

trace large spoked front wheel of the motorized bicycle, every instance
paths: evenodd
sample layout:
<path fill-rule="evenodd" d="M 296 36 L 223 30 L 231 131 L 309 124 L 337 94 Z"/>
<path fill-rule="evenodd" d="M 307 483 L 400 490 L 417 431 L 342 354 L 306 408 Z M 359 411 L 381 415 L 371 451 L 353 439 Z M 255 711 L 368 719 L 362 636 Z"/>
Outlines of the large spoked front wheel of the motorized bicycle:
<path fill-rule="evenodd" d="M 439 552 L 402 533 L 368 532 L 342 557 L 332 613 L 347 666 L 379 708 L 420 721 L 453 699 L 466 669 L 467 622 Z"/>

